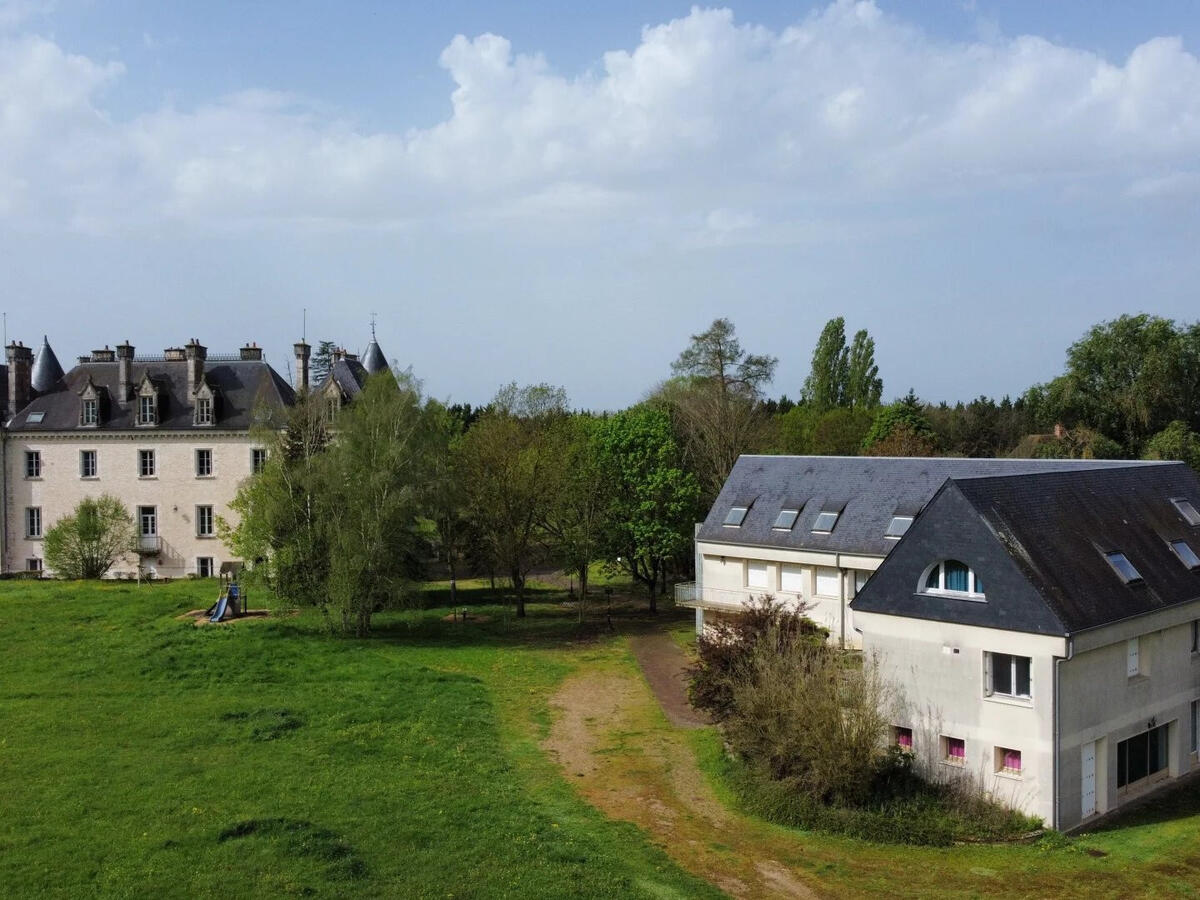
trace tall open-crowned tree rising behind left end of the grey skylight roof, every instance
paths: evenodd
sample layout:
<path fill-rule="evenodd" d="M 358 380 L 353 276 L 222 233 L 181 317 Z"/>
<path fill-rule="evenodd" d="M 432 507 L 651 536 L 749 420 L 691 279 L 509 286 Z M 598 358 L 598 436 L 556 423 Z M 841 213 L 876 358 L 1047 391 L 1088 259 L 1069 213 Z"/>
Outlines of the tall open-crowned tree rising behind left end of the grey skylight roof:
<path fill-rule="evenodd" d="M 655 400 L 671 408 L 707 494 L 715 497 L 738 456 L 764 440 L 761 402 L 778 362 L 746 353 L 733 323 L 716 319 L 671 364 L 676 378 Z"/>

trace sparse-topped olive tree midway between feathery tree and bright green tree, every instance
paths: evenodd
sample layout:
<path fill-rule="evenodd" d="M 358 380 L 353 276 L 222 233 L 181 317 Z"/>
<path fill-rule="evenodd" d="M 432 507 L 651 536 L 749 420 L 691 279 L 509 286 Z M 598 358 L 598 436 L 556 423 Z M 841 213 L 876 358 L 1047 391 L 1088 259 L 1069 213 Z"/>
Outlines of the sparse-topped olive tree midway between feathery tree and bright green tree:
<path fill-rule="evenodd" d="M 502 388 L 463 436 L 460 461 L 468 503 L 492 563 L 508 572 L 523 618 L 526 576 L 542 550 L 542 523 L 552 497 L 550 420 L 566 415 L 560 388 Z"/>

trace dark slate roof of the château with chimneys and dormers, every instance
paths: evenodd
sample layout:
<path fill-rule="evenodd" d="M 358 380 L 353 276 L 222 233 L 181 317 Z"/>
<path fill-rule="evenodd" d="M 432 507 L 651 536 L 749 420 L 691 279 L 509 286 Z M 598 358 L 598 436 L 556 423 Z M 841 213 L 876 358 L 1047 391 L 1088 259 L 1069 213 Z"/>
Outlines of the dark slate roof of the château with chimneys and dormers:
<path fill-rule="evenodd" d="M 36 397 L 8 422 L 12 431 L 152 431 L 191 430 L 211 431 L 214 426 L 197 426 L 192 421 L 192 400 L 187 396 L 187 362 L 139 362 L 131 370 L 131 391 L 136 391 L 145 373 L 160 388 L 160 424 L 152 427 L 134 426 L 136 401 L 118 403 L 118 364 L 83 362 L 64 376 L 48 394 Z M 98 428 L 79 425 L 79 392 L 91 378 L 101 389 Z M 260 403 L 271 409 L 292 406 L 295 394 L 278 372 L 262 360 L 210 360 L 204 367 L 205 382 L 216 391 L 217 430 L 245 430 L 253 425 L 252 413 Z M 42 413 L 40 422 L 30 422 L 31 413 Z"/>

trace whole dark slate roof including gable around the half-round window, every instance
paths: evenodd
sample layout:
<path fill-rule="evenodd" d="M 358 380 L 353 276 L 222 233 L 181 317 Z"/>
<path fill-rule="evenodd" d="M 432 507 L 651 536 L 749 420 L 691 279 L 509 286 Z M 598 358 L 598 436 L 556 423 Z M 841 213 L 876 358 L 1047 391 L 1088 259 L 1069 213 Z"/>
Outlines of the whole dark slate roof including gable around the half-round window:
<path fill-rule="evenodd" d="M 1183 463 L 955 478 L 851 605 L 1070 635 L 1194 601 L 1200 568 L 1189 569 L 1171 541 L 1200 554 L 1200 526 L 1189 524 L 1174 499 L 1200 509 L 1200 478 Z M 1141 577 L 1120 577 L 1105 557 L 1111 552 L 1123 553 Z M 922 572 L 946 558 L 976 569 L 984 602 L 919 592 Z"/>

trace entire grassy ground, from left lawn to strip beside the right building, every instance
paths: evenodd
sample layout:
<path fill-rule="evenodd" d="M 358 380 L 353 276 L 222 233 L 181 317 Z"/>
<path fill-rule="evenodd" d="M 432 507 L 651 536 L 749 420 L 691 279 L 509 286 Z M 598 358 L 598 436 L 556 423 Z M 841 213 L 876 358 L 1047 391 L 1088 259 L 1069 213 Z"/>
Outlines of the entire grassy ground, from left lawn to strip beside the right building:
<path fill-rule="evenodd" d="M 176 618 L 215 593 L 0 582 L 0 895 L 704 898 L 689 871 L 719 880 L 744 853 L 818 895 L 1200 896 L 1195 788 L 1034 846 L 880 846 L 731 811 L 734 851 L 688 821 L 701 792 L 736 805 L 715 733 L 671 728 L 625 642 L 572 611 L 538 602 L 518 623 L 469 595 L 466 625 L 394 613 L 367 641 L 312 613 Z M 688 642 L 686 622 L 668 628 Z M 593 722 L 607 768 L 587 780 L 541 745 L 581 679 L 632 698 L 612 728 Z M 607 808 L 614 786 L 626 809 L 661 790 L 674 826 L 643 832 L 580 794 Z"/>

